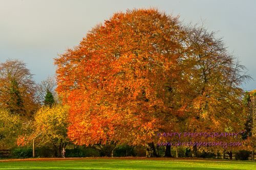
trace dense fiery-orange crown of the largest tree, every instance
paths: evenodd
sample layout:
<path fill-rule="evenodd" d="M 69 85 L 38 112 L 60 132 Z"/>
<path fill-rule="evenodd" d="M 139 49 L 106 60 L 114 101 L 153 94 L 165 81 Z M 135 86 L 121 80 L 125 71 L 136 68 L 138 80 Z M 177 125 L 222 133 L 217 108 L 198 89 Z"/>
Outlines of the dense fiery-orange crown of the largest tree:
<path fill-rule="evenodd" d="M 69 137 L 77 144 L 152 145 L 159 128 L 182 115 L 182 100 L 173 100 L 182 91 L 182 36 L 177 17 L 128 10 L 55 59 L 57 91 L 71 106 Z"/>

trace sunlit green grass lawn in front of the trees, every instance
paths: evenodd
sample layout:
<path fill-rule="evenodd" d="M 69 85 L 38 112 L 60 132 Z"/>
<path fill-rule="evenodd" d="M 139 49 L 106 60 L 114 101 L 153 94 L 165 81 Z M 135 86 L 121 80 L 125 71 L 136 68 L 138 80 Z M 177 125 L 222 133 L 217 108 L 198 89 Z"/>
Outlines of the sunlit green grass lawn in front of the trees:
<path fill-rule="evenodd" d="M 256 169 L 252 161 L 85 158 L 0 161 L 0 169 Z"/>

